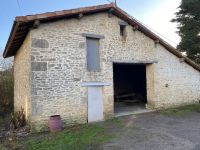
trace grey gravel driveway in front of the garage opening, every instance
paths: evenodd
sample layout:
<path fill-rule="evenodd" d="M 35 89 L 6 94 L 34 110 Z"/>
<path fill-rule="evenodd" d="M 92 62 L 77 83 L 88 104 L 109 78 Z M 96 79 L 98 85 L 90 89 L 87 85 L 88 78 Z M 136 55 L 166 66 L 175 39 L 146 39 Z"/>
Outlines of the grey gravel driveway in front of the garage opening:
<path fill-rule="evenodd" d="M 115 138 L 98 147 L 101 150 L 200 150 L 199 112 L 130 115 L 106 126 Z"/>

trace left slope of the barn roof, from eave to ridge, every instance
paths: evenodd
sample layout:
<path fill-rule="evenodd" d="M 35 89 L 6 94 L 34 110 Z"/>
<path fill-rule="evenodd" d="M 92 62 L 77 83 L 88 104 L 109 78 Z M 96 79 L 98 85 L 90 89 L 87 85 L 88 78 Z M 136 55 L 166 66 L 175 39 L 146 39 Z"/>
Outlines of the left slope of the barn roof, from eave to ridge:
<path fill-rule="evenodd" d="M 100 13 L 115 8 L 115 4 L 104 4 L 92 7 L 83 7 L 77 9 L 69 9 L 56 12 L 47 12 L 43 14 L 17 16 L 13 22 L 13 26 L 3 52 L 3 57 L 14 56 L 17 50 L 20 48 L 23 40 L 31 28 L 34 27 L 35 21 L 40 23 L 53 22 L 60 19 L 67 19 L 73 17 L 79 17 L 80 14 L 89 15 L 94 13 Z M 17 42 L 16 42 L 17 41 Z"/>

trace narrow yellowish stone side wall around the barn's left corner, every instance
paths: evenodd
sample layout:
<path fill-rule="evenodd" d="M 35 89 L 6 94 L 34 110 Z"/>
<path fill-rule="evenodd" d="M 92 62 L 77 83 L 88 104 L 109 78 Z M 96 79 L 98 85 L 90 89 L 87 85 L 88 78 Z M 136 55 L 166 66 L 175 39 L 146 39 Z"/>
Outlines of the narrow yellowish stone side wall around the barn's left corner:
<path fill-rule="evenodd" d="M 14 57 L 14 110 L 31 114 L 31 35 L 27 35 Z"/>

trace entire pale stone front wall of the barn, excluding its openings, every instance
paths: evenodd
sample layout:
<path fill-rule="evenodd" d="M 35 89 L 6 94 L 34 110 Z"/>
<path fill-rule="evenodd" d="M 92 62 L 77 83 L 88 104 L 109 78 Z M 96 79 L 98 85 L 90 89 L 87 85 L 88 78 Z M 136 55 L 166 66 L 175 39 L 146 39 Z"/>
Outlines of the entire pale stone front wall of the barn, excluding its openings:
<path fill-rule="evenodd" d="M 41 24 L 31 30 L 32 123 L 47 123 L 60 114 L 66 125 L 87 122 L 87 88 L 83 82 L 105 86 L 104 117 L 113 115 L 113 62 L 158 61 L 147 69 L 151 107 L 174 106 L 200 98 L 200 73 L 139 31 L 126 27 L 120 36 L 119 18 L 107 13 Z M 100 40 L 100 72 L 88 72 L 86 38 L 82 33 L 105 36 Z M 151 74 L 154 74 L 152 76 Z M 147 79 L 147 80 L 148 80 Z M 153 84 L 153 89 L 151 85 Z M 168 87 L 166 87 L 168 85 Z"/>

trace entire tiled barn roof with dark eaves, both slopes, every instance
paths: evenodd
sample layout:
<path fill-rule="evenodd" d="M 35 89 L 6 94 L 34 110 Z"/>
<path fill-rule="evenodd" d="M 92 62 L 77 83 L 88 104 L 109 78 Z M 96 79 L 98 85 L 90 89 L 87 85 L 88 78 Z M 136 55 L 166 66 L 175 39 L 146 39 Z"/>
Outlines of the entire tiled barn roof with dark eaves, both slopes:
<path fill-rule="evenodd" d="M 125 11 L 117 7 L 114 3 L 105 4 L 105 5 L 97 5 L 92 7 L 82 7 L 77 9 L 70 9 L 70 10 L 63 10 L 63 11 L 55 11 L 55 12 L 47 12 L 43 14 L 36 14 L 36 15 L 28 15 L 28 16 L 18 16 L 15 18 L 15 21 L 12 26 L 12 30 L 10 32 L 9 39 L 7 41 L 3 57 L 11 57 L 14 56 L 17 50 L 22 45 L 27 33 L 31 28 L 34 28 L 39 23 L 47 23 L 56 21 L 59 19 L 67 19 L 73 17 L 80 17 L 80 15 L 90 15 L 100 12 L 109 12 L 114 14 L 115 16 L 121 18 L 122 20 L 126 21 L 128 24 L 132 25 L 137 30 L 144 33 L 149 38 L 153 39 L 155 42 L 159 42 L 163 45 L 168 51 L 173 53 L 179 58 L 183 58 L 183 60 L 191 65 L 193 68 L 200 71 L 200 66 L 197 65 L 191 59 L 182 55 L 182 53 L 176 50 L 173 46 L 168 44 L 158 35 L 150 31 L 144 25 L 139 23 L 137 20 L 129 16 Z"/>

